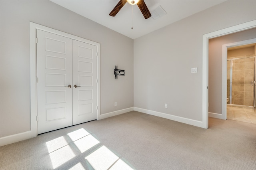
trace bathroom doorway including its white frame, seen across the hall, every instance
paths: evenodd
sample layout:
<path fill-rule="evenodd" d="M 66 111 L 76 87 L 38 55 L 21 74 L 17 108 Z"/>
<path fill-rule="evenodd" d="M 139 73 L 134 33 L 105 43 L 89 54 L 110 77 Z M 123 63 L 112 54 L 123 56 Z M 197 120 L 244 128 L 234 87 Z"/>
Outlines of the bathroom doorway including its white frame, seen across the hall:
<path fill-rule="evenodd" d="M 250 116 L 254 117 L 251 113 L 252 111 L 254 113 L 256 102 L 255 44 L 256 38 L 222 45 L 222 89 L 224 91 L 222 118 L 224 119 L 253 123 Z M 245 49 L 246 47 L 253 47 L 253 49 Z M 245 51 L 247 55 L 242 55 Z"/>

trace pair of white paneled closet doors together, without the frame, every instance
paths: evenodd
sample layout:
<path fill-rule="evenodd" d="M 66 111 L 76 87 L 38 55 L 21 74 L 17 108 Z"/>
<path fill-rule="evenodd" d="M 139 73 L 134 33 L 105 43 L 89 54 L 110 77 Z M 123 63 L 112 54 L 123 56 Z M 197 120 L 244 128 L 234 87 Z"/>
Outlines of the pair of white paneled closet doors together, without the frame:
<path fill-rule="evenodd" d="M 97 119 L 97 47 L 37 30 L 38 134 Z"/>

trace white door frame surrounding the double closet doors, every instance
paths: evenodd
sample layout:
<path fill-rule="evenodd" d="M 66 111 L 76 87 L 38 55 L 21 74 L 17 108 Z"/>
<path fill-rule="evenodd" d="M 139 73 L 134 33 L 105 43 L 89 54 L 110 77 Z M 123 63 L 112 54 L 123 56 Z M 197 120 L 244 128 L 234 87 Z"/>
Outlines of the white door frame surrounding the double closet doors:
<path fill-rule="evenodd" d="M 36 30 L 43 30 L 59 36 L 71 38 L 80 42 L 89 43 L 97 46 L 97 120 L 100 116 L 100 43 L 92 42 L 84 38 L 80 38 L 65 32 L 54 30 L 46 26 L 30 22 L 30 121 L 31 121 L 31 137 L 38 135 L 37 133 L 37 78 L 36 78 Z"/>

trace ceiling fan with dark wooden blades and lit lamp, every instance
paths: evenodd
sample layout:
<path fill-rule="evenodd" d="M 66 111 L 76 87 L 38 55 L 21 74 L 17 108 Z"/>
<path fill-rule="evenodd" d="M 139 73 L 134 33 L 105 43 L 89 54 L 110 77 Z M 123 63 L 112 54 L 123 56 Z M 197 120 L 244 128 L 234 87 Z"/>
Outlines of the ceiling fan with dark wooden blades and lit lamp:
<path fill-rule="evenodd" d="M 114 9 L 110 12 L 110 16 L 116 16 L 116 14 L 121 10 L 121 8 L 128 2 L 131 5 L 137 4 L 138 7 L 140 8 L 140 11 L 142 12 L 143 16 L 145 19 L 150 18 L 151 14 L 148 10 L 148 7 L 146 6 L 144 0 L 120 0 Z"/>

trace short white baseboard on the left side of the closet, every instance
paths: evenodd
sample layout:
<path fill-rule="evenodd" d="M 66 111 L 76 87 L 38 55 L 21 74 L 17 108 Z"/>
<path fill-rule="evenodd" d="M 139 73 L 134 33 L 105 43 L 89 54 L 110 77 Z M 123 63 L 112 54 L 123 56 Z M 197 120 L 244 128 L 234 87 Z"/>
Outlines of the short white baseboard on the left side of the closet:
<path fill-rule="evenodd" d="M 4 136 L 0 138 L 0 146 L 4 146 L 6 144 L 12 144 L 15 142 L 20 142 L 22 140 L 26 140 L 31 138 L 31 131 L 26 131 L 18 134 L 12 134 L 10 136 Z"/>

